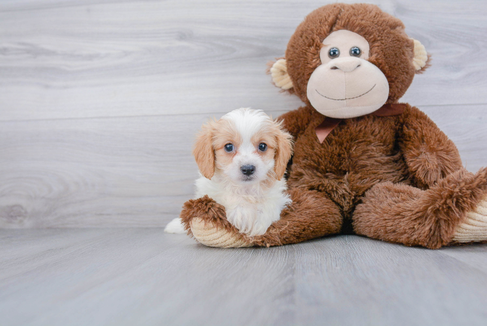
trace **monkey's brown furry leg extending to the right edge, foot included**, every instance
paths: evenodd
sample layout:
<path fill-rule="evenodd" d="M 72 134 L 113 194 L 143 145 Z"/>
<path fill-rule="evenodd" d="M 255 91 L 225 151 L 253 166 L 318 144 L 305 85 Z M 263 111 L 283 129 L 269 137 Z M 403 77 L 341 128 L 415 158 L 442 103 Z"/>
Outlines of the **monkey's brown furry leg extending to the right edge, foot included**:
<path fill-rule="evenodd" d="M 487 169 L 457 171 L 428 190 L 380 183 L 353 214 L 357 234 L 410 246 L 487 240 Z"/>

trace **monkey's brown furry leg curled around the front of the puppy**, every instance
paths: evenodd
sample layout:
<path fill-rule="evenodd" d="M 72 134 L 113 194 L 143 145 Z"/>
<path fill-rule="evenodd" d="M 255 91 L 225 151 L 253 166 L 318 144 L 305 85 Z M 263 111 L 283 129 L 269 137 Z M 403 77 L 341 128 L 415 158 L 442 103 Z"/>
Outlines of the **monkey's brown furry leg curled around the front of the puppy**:
<path fill-rule="evenodd" d="M 189 234 L 212 247 L 269 247 L 340 232 L 340 211 L 325 194 L 301 189 L 290 190 L 289 194 L 292 204 L 259 236 L 240 233 L 227 220 L 225 208 L 208 196 L 186 202 L 180 217 Z"/>

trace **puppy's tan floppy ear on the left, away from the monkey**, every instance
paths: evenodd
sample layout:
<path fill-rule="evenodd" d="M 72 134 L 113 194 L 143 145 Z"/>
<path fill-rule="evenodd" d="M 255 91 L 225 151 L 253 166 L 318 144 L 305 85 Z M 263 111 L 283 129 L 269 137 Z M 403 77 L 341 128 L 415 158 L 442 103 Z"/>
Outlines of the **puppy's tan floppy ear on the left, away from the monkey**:
<path fill-rule="evenodd" d="M 201 174 L 211 179 L 215 174 L 215 150 L 213 149 L 214 128 L 211 123 L 204 124 L 201 132 L 196 136 L 193 146 L 193 155 Z"/>

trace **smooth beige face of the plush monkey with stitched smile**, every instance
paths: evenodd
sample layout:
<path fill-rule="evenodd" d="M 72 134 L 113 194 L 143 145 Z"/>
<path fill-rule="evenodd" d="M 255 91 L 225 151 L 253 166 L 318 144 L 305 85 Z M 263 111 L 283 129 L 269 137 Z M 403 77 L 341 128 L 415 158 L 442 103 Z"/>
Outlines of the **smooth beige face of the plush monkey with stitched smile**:
<path fill-rule="evenodd" d="M 386 76 L 369 58 L 369 43 L 346 29 L 330 33 L 320 50 L 321 65 L 307 86 L 311 105 L 325 116 L 350 118 L 372 113 L 389 96 Z"/>

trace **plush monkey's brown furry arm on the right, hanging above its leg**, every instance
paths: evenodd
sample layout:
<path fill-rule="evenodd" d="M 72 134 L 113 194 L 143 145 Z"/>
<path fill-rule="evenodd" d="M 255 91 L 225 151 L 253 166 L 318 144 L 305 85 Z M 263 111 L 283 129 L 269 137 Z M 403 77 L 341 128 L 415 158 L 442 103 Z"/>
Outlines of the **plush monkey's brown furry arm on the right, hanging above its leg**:
<path fill-rule="evenodd" d="M 423 112 L 407 105 L 400 146 L 418 186 L 430 187 L 462 168 L 458 149 Z"/>

